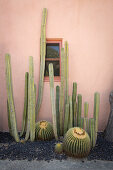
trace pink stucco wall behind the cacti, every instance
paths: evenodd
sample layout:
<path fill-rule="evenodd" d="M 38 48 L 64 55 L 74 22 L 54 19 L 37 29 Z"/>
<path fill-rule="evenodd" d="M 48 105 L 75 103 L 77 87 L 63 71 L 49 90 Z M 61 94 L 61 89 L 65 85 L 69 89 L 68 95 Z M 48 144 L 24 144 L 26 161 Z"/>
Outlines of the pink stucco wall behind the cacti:
<path fill-rule="evenodd" d="M 30 55 L 34 57 L 38 88 L 44 7 L 48 9 L 47 38 L 63 38 L 69 43 L 69 94 L 76 81 L 83 102 L 90 104 L 89 117 L 93 116 L 94 92 L 100 92 L 101 131 L 108 120 L 109 93 L 113 90 L 113 0 L 0 0 L 0 130 L 8 130 L 5 53 L 11 54 L 19 130 L 24 105 L 24 75 Z M 51 118 L 49 83 L 45 82 L 39 119 Z"/>

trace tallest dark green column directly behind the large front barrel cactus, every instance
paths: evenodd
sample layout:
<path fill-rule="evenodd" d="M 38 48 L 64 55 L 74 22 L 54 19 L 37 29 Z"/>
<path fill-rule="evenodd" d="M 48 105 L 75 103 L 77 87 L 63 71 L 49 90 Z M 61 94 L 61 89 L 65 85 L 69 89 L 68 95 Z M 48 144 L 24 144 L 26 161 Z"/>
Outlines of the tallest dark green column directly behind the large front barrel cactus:
<path fill-rule="evenodd" d="M 72 92 L 72 107 L 73 107 L 73 125 L 76 126 L 76 96 L 77 96 L 77 83 L 73 83 L 73 92 Z"/>

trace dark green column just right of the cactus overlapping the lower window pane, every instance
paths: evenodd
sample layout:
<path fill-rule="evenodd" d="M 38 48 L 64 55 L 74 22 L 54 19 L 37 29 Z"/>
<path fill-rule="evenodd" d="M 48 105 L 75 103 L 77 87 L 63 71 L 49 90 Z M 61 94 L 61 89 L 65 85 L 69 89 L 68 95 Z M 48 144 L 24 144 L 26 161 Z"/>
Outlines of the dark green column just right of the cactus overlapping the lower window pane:
<path fill-rule="evenodd" d="M 57 133 L 60 135 L 60 112 L 59 112 L 59 98 L 60 87 L 56 86 L 56 121 L 57 121 Z"/>

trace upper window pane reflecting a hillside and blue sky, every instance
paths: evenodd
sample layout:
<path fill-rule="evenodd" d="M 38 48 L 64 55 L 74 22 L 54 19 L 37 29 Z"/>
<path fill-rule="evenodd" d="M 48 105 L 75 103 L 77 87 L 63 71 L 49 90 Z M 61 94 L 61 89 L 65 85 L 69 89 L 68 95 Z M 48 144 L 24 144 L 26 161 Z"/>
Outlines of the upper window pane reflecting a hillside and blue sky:
<path fill-rule="evenodd" d="M 46 44 L 46 58 L 59 58 L 59 43 Z"/>

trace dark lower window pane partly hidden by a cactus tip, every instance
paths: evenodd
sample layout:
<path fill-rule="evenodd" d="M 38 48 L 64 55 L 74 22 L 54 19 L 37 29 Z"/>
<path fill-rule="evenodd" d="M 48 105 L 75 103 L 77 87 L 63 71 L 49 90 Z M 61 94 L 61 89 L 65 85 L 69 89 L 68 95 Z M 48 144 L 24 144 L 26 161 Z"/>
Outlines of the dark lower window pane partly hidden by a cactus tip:
<path fill-rule="evenodd" d="M 45 73 L 44 76 L 49 76 L 49 64 L 53 64 L 54 76 L 60 76 L 60 63 L 59 61 L 46 61 L 45 62 Z"/>

